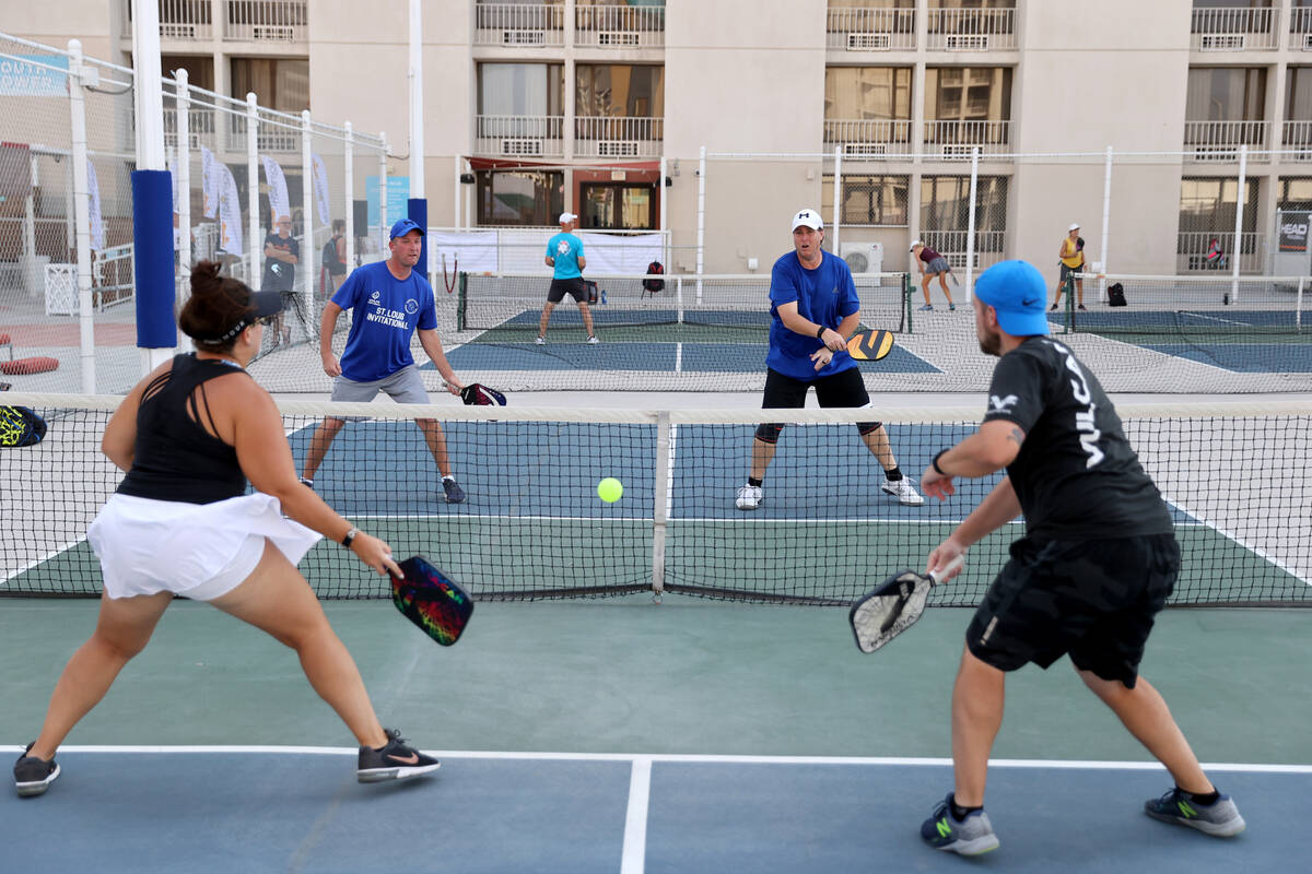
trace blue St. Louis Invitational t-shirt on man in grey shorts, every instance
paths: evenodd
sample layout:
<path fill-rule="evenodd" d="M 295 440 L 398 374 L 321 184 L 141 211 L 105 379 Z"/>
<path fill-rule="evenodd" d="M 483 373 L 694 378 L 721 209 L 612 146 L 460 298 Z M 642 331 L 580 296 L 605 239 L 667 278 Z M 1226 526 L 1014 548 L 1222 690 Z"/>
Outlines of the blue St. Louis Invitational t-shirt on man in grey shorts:
<path fill-rule="evenodd" d="M 398 279 L 386 261 L 356 267 L 332 301 L 354 309 L 341 375 L 356 383 L 380 380 L 413 364 L 409 343 L 415 329 L 437 328 L 433 286 L 415 270 Z"/>

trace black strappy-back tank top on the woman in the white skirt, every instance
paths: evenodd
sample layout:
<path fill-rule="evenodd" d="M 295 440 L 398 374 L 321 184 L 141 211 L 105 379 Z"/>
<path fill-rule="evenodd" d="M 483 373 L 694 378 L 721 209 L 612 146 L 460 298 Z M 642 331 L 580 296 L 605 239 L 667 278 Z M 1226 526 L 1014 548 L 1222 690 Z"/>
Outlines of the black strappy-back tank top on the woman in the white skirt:
<path fill-rule="evenodd" d="M 136 410 L 133 469 L 118 484 L 119 494 L 186 503 L 214 503 L 245 494 L 247 480 L 236 449 L 199 423 L 207 421 L 213 427 L 209 404 L 198 387 L 239 371 L 223 360 L 177 355 L 173 370 L 147 384 Z"/>

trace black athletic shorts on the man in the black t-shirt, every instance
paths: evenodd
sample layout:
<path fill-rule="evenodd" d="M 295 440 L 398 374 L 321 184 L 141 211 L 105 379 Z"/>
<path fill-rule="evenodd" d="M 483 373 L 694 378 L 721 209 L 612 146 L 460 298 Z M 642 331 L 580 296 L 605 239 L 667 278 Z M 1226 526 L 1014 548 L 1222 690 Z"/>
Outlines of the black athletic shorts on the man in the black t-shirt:
<path fill-rule="evenodd" d="M 966 630 L 966 646 L 1001 671 L 1047 668 L 1064 654 L 1082 671 L 1134 688 L 1153 617 L 1179 574 L 1174 535 L 1113 540 L 1022 537 Z"/>

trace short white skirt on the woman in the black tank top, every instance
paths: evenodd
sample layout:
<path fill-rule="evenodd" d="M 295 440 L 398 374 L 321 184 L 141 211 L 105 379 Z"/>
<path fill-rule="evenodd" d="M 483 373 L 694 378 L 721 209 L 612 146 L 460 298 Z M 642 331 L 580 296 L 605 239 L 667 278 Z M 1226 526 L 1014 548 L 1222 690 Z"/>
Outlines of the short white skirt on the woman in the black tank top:
<path fill-rule="evenodd" d="M 260 563 L 266 539 L 295 565 L 320 535 L 258 491 L 214 503 L 114 494 L 87 529 L 110 598 L 226 595 Z"/>

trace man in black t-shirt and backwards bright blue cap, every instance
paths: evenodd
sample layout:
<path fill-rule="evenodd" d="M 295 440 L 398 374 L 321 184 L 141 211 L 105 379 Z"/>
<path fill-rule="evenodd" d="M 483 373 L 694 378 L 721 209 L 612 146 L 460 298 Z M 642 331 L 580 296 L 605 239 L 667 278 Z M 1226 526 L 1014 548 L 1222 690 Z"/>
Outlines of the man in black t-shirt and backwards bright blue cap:
<path fill-rule="evenodd" d="M 1139 662 L 1179 573 L 1179 545 L 1157 486 L 1126 442 L 1097 377 L 1047 337 L 1043 276 L 1025 261 L 985 270 L 975 286 L 980 349 L 997 355 L 979 430 L 939 452 L 921 478 L 939 501 L 955 477 L 1006 476 L 941 542 L 945 569 L 989 532 L 1025 515 L 1025 536 L 966 632 L 953 691 L 955 791 L 921 827 L 937 849 L 997 846 L 984 814 L 988 755 L 1002 723 L 1004 677 L 1065 654 L 1085 684 L 1161 761 L 1176 785 L 1144 805 L 1162 822 L 1228 837 L 1244 829 L 1235 802 L 1198 764 Z"/>

